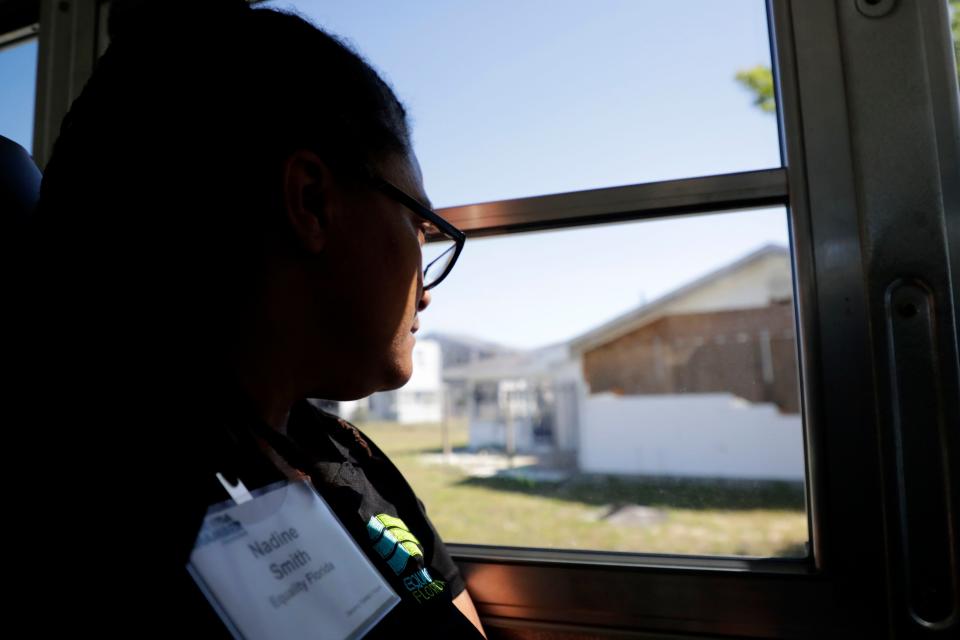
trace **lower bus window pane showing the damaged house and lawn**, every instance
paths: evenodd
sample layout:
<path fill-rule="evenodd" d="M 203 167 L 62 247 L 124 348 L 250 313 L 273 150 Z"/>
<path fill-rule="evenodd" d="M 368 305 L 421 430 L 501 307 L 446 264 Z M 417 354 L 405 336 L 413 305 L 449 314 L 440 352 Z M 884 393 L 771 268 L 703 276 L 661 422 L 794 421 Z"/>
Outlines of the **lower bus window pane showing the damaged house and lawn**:
<path fill-rule="evenodd" d="M 337 410 L 451 542 L 803 555 L 790 264 L 783 208 L 472 239 Z"/>

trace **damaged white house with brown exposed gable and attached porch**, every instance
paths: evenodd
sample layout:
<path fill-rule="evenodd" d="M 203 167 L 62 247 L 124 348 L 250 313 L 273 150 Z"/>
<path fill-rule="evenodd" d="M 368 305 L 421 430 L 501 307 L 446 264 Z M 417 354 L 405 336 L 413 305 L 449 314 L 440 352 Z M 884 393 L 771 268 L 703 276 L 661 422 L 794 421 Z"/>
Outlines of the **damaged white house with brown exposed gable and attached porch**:
<path fill-rule="evenodd" d="M 470 444 L 583 471 L 801 479 L 790 254 L 769 245 L 567 343 L 444 372 Z"/>

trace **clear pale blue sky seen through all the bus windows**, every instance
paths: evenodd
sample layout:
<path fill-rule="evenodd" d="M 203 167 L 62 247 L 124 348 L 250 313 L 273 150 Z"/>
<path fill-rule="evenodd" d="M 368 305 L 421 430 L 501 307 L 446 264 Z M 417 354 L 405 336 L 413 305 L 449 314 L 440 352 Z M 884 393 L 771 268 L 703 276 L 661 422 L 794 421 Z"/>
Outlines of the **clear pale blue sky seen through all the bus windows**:
<path fill-rule="evenodd" d="M 734 81 L 770 64 L 763 0 L 268 5 L 394 86 L 438 207 L 780 164 L 775 118 Z M 0 134 L 28 148 L 35 58 L 0 52 Z M 564 340 L 769 242 L 782 209 L 470 240 L 422 331 Z"/>

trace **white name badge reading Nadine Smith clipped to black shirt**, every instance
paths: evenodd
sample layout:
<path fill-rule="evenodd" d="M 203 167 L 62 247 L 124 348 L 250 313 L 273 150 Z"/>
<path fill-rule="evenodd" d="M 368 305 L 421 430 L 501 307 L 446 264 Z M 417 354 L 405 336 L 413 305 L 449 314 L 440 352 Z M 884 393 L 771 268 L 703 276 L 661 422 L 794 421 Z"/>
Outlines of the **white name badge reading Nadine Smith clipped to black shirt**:
<path fill-rule="evenodd" d="M 236 638 L 360 638 L 400 602 L 303 481 L 211 507 L 187 568 Z"/>

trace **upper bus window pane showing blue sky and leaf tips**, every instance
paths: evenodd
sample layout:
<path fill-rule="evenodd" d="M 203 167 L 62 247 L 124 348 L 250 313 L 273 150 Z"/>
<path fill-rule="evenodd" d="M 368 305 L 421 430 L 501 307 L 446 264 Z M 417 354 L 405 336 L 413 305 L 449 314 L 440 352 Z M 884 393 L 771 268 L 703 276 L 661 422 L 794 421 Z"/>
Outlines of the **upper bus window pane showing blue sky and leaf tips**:
<path fill-rule="evenodd" d="M 267 3 L 383 72 L 438 207 L 780 166 L 764 5 Z"/>

